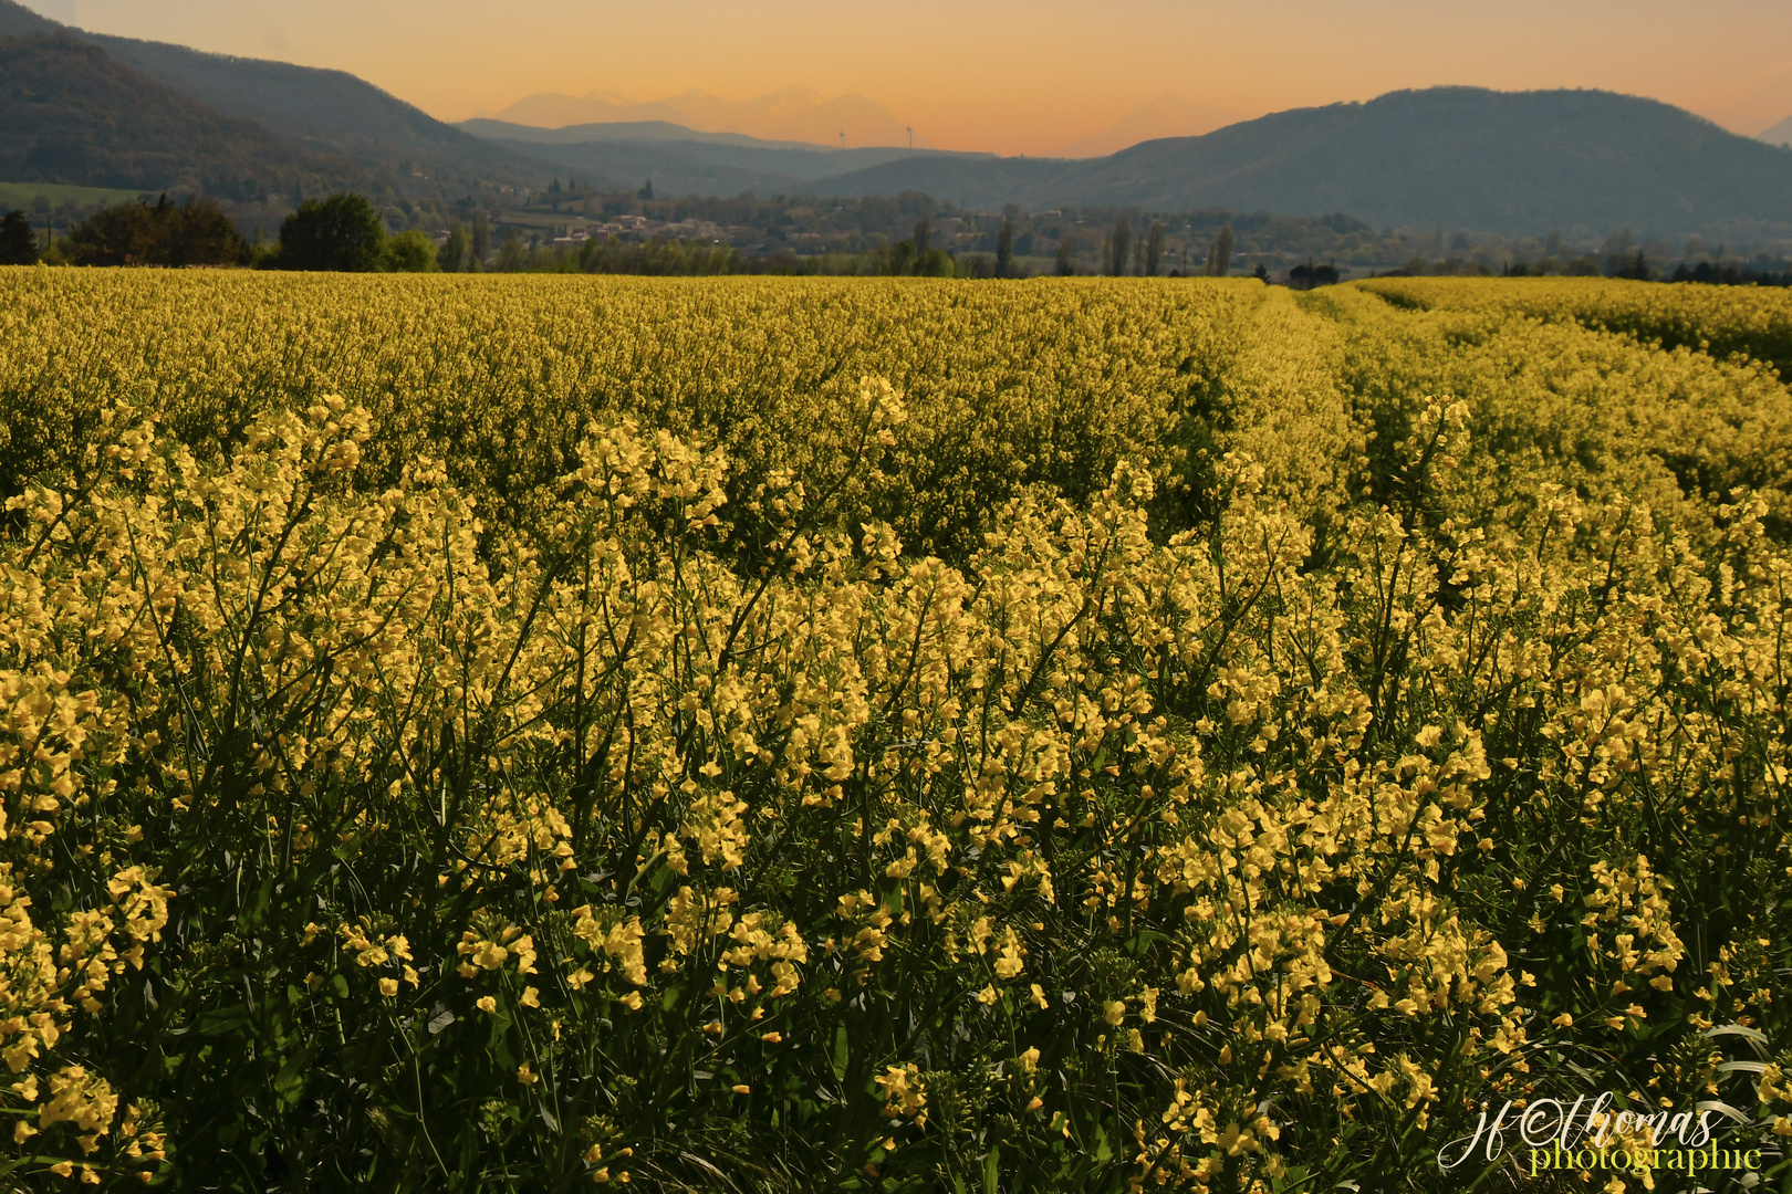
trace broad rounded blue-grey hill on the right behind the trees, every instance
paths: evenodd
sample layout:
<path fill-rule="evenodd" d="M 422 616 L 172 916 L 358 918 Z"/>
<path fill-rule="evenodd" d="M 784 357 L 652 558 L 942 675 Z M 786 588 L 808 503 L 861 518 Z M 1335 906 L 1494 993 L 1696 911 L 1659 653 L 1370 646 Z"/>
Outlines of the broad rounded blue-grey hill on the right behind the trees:
<path fill-rule="evenodd" d="M 1502 233 L 1792 231 L 1792 152 L 1609 91 L 1394 91 L 1090 161 L 912 158 L 817 184 L 973 206 L 1233 208 Z"/>

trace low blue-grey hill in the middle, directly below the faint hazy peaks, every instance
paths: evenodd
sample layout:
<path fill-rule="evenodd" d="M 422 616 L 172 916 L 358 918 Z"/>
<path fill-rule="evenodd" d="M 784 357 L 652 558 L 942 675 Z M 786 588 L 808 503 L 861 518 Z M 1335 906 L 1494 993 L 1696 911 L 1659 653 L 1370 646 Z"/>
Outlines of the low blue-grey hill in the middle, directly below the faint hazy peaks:
<path fill-rule="evenodd" d="M 998 161 L 995 154 L 909 149 L 824 149 L 803 141 L 762 141 L 738 132 L 697 132 L 663 120 L 532 129 L 502 120 L 468 120 L 468 132 L 520 154 L 564 166 L 597 188 L 636 188 L 652 181 L 659 195 L 760 195 L 810 190 L 817 181 L 914 158 Z"/>

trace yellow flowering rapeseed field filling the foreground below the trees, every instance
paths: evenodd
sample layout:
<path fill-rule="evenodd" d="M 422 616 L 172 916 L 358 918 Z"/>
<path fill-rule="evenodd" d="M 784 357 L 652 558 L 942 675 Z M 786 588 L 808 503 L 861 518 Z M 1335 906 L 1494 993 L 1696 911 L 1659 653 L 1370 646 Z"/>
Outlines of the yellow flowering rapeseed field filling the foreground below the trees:
<path fill-rule="evenodd" d="M 0 297 L 14 1189 L 1785 1178 L 1778 295 Z"/>

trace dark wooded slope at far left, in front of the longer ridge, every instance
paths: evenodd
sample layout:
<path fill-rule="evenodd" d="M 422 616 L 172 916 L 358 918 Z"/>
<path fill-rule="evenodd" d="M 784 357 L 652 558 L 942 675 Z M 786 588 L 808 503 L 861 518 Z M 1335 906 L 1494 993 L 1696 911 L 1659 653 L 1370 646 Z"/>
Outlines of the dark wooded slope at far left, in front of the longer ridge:
<path fill-rule="evenodd" d="M 63 32 L 0 36 L 0 179 L 280 195 L 371 183 L 346 158 L 220 116 Z"/>

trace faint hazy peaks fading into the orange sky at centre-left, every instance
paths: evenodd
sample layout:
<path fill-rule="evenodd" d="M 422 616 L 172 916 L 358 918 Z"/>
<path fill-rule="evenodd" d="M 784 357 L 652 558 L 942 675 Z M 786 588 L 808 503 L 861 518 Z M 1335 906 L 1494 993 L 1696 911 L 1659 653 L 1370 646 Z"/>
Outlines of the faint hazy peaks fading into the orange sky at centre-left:
<path fill-rule="evenodd" d="M 701 132 L 742 132 L 772 141 L 839 147 L 840 132 L 846 132 L 848 149 L 909 145 L 907 125 L 876 100 L 864 95 L 823 98 L 810 88 L 783 88 L 738 102 L 708 91 L 685 91 L 643 104 L 609 91 L 582 97 L 543 93 L 516 100 L 496 118 L 541 129 L 658 120 Z M 923 136 L 914 138 L 914 147 L 932 149 Z"/>

